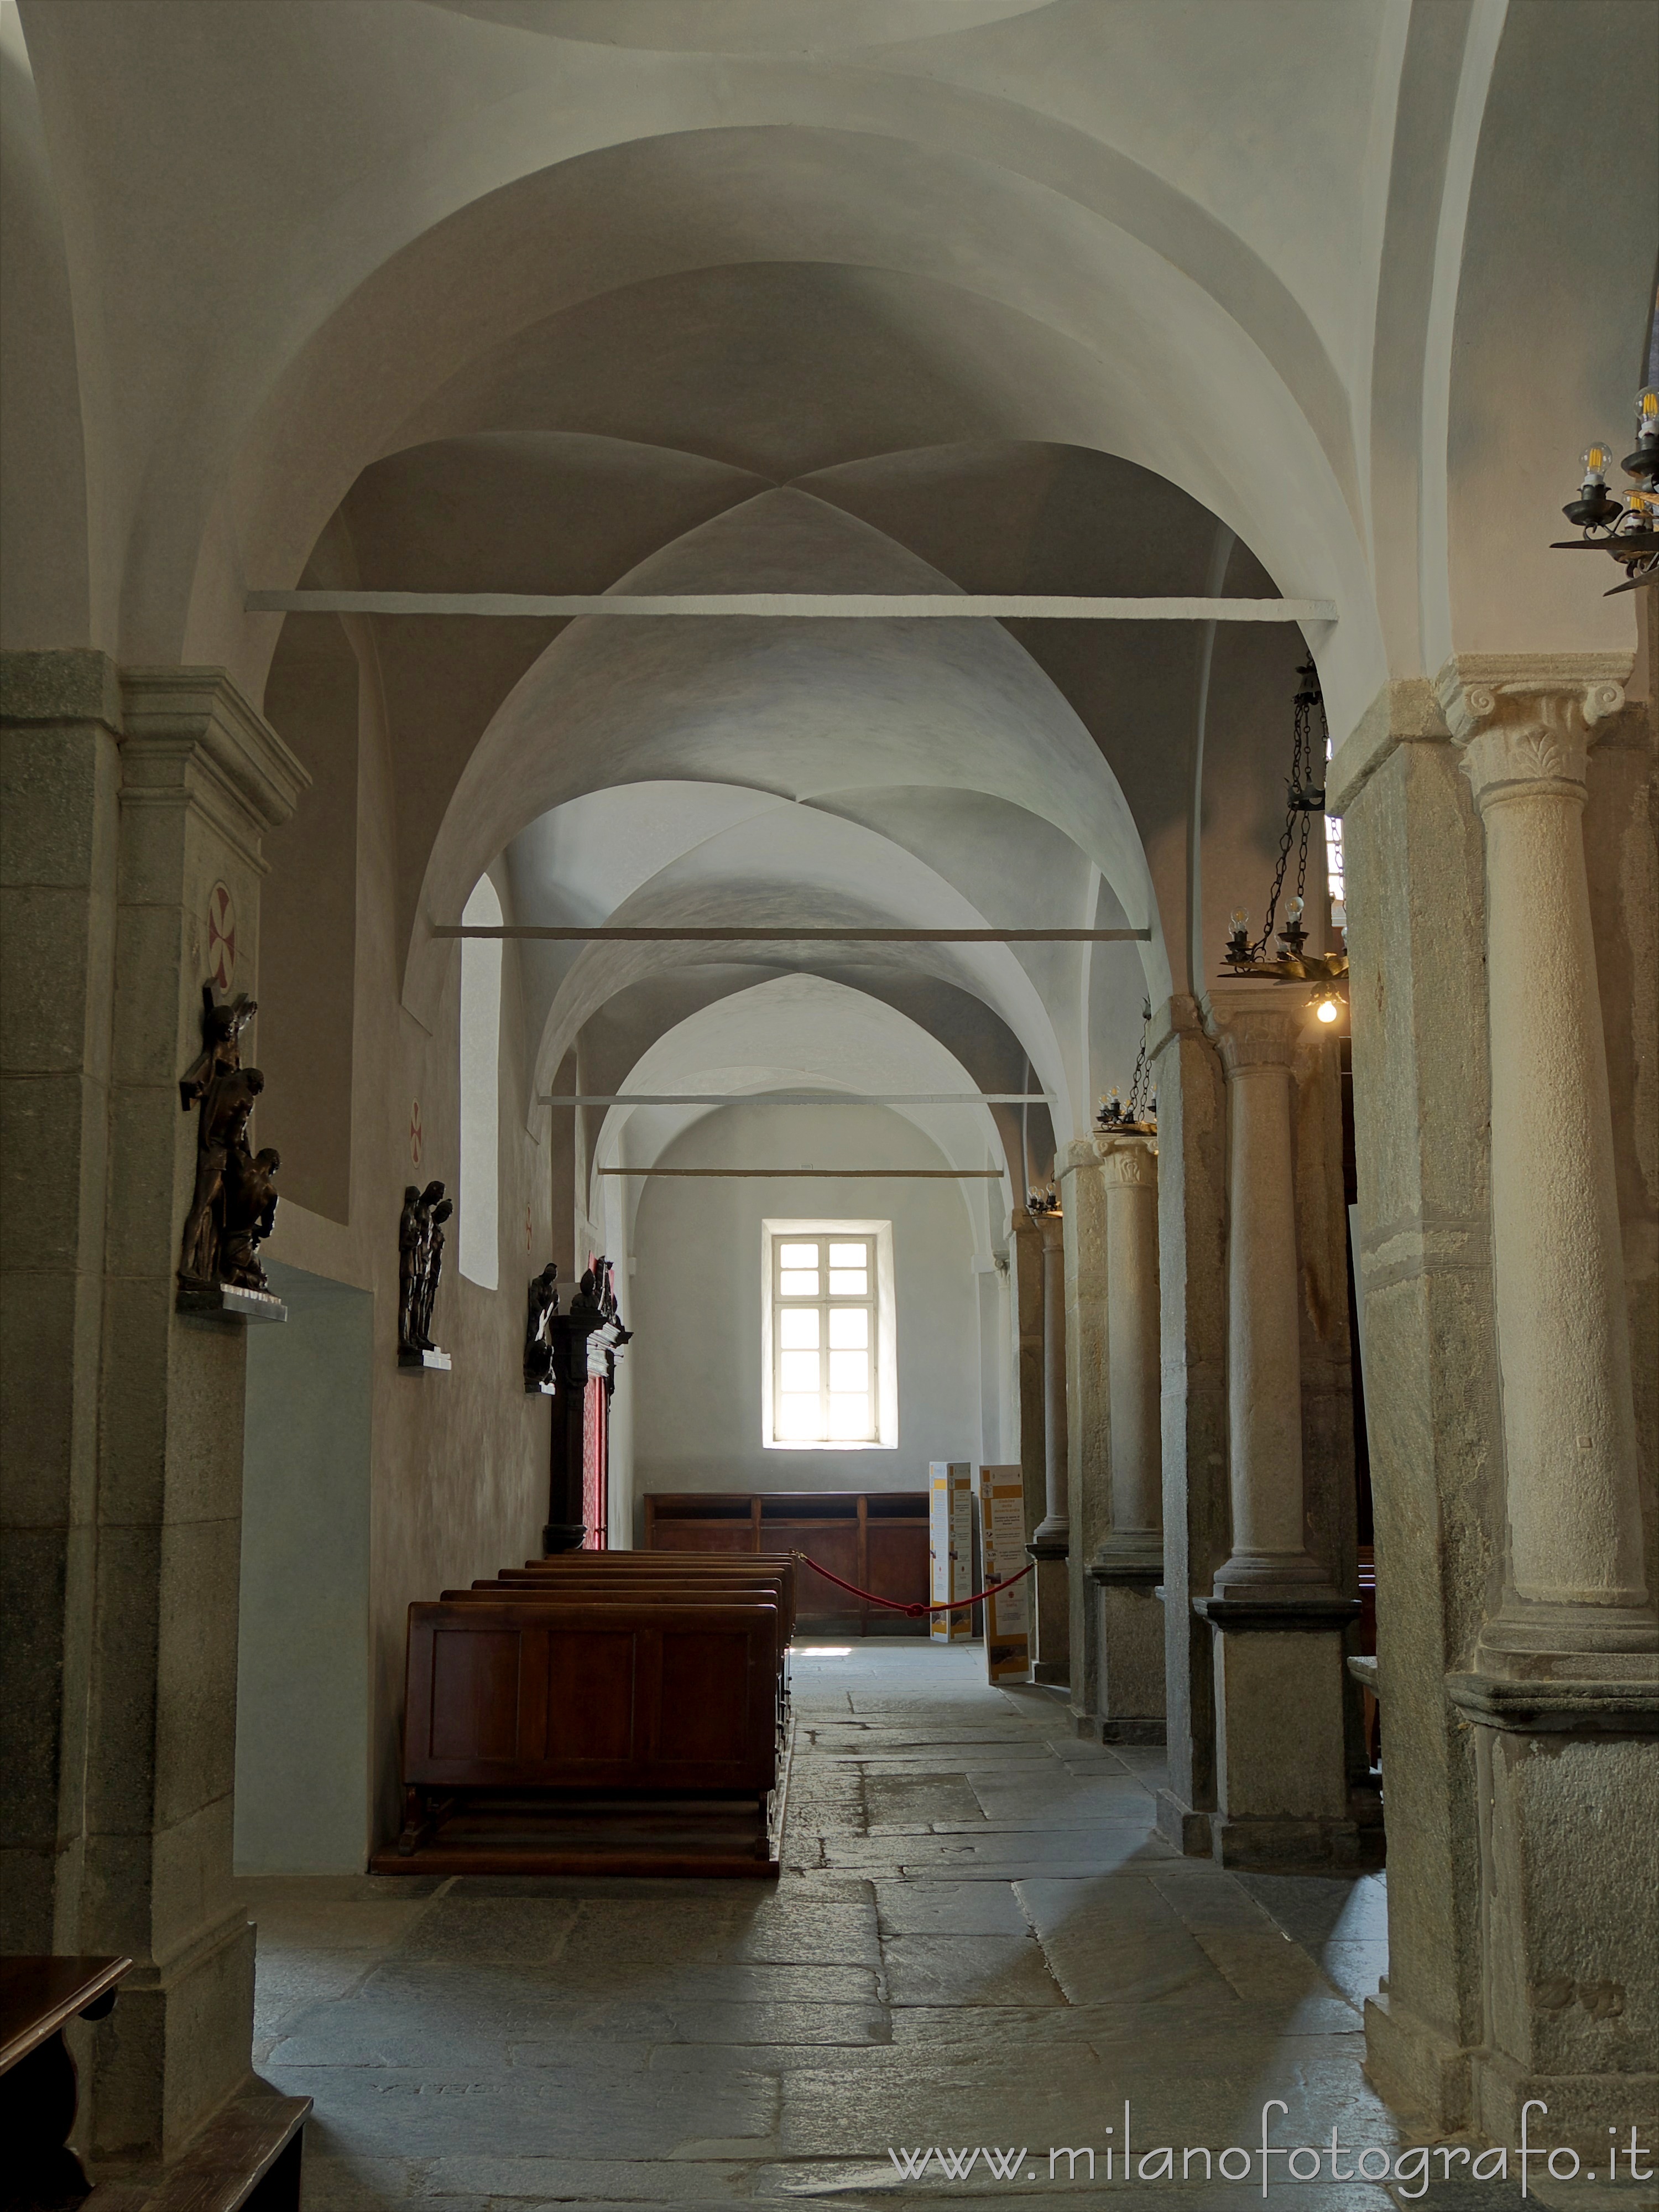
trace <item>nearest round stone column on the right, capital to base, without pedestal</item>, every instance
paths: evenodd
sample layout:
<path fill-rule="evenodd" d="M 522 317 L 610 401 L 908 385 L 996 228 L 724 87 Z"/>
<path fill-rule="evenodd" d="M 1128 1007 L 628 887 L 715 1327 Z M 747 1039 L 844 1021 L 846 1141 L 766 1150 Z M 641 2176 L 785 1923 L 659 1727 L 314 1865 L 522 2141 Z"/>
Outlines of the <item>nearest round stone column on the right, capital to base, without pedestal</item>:
<path fill-rule="evenodd" d="M 1491 1237 L 1509 1564 L 1478 1663 L 1650 1677 L 1613 1115 L 1584 869 L 1586 748 L 1628 655 L 1453 661 L 1486 841 Z M 1528 1655 L 1524 1663 L 1515 1655 Z M 1595 1659 L 1590 1655 L 1597 1655 Z"/>

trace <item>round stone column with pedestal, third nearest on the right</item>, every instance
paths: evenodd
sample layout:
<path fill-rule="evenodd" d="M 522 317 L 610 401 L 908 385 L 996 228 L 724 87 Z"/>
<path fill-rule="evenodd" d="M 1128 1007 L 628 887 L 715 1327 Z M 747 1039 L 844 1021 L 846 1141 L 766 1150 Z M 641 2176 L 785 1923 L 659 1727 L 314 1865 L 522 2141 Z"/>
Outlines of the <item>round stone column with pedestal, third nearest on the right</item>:
<path fill-rule="evenodd" d="M 1102 1139 L 1110 1391 L 1110 1528 L 1099 1588 L 1099 1734 L 1164 1743 L 1164 1438 L 1159 1427 L 1157 1139 Z"/>

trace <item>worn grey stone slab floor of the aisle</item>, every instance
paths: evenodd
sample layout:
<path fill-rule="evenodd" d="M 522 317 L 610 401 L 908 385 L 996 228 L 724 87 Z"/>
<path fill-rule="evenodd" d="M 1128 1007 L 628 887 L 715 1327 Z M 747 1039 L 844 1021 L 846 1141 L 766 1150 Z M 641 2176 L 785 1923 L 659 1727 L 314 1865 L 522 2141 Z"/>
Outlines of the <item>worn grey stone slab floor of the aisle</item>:
<path fill-rule="evenodd" d="M 310 2212 L 1082 2203 L 1048 2148 L 1117 2150 L 1124 2099 L 1137 2146 L 1254 2143 L 1274 2095 L 1279 2141 L 1394 2143 L 1352 2002 L 1383 1885 L 1183 1860 L 1161 1752 L 1084 1743 L 982 1670 L 920 1639 L 796 1661 L 776 1885 L 243 1885 L 265 2070 L 316 2099 Z M 1037 2179 L 900 2183 L 889 2148 L 936 2141 L 1026 2143 Z M 1261 2194 L 1119 2172 L 1102 2201 Z M 1283 2201 L 1391 2208 L 1358 2181 Z"/>

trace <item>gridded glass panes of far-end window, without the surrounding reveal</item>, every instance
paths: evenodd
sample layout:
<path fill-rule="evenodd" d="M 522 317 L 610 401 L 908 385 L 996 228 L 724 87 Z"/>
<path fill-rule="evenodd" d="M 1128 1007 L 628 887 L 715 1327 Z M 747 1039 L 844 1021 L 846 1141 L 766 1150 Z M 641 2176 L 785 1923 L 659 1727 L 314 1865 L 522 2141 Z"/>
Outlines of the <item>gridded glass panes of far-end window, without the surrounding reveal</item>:
<path fill-rule="evenodd" d="M 776 1234 L 772 1267 L 772 1442 L 878 1440 L 876 1239 Z"/>

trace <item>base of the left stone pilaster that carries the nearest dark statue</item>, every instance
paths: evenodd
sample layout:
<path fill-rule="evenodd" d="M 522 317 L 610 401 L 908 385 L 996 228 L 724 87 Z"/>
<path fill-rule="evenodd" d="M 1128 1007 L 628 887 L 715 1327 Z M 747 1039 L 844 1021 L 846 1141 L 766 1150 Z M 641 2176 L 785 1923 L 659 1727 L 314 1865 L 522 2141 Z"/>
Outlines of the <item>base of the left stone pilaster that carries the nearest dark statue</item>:
<path fill-rule="evenodd" d="M 237 1907 L 164 1966 L 135 1966 L 91 2039 L 95 2161 L 168 2159 L 252 2070 L 254 1931 Z"/>

